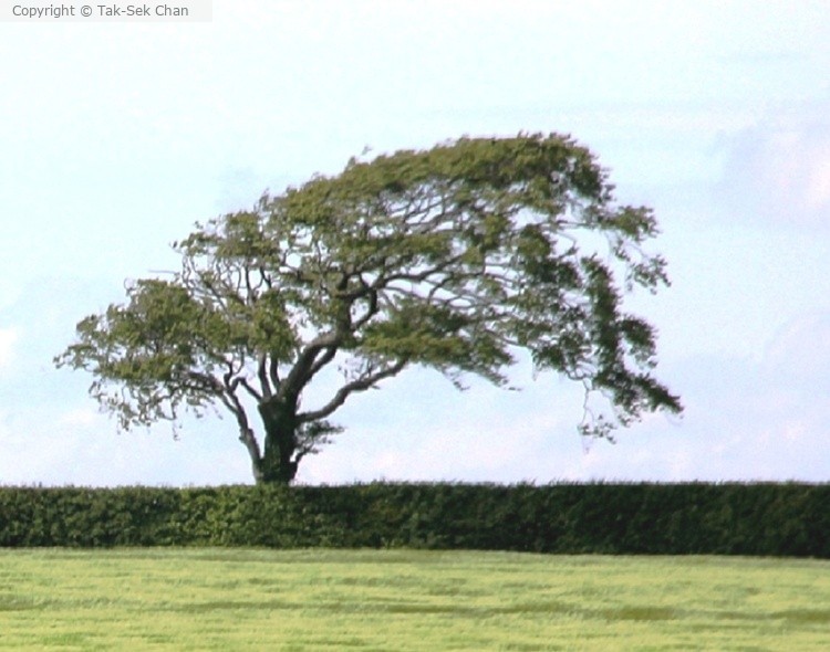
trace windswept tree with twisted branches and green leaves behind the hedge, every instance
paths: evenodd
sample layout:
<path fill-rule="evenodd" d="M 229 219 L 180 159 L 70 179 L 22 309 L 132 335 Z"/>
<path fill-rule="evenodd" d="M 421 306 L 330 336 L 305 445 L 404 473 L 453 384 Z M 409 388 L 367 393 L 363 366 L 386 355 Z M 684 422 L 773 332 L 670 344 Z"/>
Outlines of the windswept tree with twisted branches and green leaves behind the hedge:
<path fill-rule="evenodd" d="M 326 419 L 406 367 L 505 386 L 522 350 L 604 397 L 580 430 L 610 438 L 643 412 L 682 410 L 652 376 L 654 328 L 622 311 L 623 291 L 667 284 L 665 261 L 643 249 L 656 233 L 653 212 L 616 206 L 606 171 L 570 137 L 353 158 L 197 223 L 173 244 L 179 272 L 80 322 L 55 364 L 92 372 L 90 393 L 123 428 L 224 406 L 258 483 L 291 482 L 339 430 Z M 333 367 L 339 388 L 303 409 Z"/>

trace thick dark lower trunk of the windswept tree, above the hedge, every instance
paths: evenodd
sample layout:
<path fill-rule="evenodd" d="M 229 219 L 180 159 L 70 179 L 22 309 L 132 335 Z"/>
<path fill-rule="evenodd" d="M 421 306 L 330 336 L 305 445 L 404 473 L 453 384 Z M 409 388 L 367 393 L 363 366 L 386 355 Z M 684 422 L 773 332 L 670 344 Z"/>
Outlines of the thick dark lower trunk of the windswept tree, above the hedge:
<path fill-rule="evenodd" d="M 266 445 L 257 484 L 290 484 L 297 476 L 297 404 L 276 398 L 258 406 L 266 431 Z"/>

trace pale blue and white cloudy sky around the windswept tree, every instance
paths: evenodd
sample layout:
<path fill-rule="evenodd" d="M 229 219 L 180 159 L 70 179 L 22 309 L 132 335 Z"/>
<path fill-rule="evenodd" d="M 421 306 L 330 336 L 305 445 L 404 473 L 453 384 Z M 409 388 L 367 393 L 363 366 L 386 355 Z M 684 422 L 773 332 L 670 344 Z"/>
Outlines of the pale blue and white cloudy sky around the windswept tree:
<path fill-rule="evenodd" d="M 214 0 L 211 22 L 0 22 L 0 484 L 250 483 L 232 419 L 120 432 L 52 357 L 196 221 L 469 136 L 570 134 L 654 209 L 657 413 L 582 440 L 581 388 L 407 369 L 298 482 L 830 479 L 826 1 Z M 312 397 L 313 398 L 313 397 Z"/>

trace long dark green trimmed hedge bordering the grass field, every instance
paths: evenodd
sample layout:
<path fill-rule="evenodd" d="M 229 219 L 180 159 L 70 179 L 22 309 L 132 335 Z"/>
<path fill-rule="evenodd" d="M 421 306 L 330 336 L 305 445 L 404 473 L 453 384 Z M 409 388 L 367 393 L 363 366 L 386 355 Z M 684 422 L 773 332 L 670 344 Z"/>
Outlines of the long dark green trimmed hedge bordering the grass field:
<path fill-rule="evenodd" d="M 830 558 L 830 484 L 0 487 L 0 546 Z"/>

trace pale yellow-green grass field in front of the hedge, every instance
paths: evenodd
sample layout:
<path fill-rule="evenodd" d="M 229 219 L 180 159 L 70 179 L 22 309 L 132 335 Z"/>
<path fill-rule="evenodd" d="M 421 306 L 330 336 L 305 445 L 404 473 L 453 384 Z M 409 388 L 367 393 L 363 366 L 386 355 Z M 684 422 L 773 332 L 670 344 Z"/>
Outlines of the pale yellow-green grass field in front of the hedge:
<path fill-rule="evenodd" d="M 0 550 L 0 650 L 830 650 L 830 562 Z"/>

